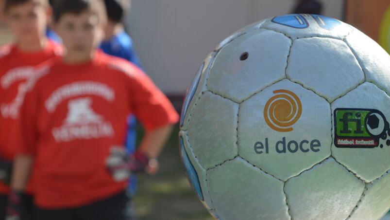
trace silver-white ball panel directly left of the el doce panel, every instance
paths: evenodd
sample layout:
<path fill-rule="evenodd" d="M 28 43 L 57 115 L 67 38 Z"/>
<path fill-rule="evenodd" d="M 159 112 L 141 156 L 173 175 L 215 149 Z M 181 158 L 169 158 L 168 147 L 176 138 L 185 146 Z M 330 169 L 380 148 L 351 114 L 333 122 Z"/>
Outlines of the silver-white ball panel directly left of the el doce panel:
<path fill-rule="evenodd" d="M 237 103 L 204 92 L 191 114 L 188 140 L 205 169 L 237 156 Z"/>

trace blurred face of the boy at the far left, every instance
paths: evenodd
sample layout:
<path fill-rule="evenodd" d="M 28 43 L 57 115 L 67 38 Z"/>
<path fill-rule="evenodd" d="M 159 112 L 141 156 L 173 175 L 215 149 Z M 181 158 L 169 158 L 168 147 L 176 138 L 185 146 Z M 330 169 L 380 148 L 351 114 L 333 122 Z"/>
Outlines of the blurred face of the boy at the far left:
<path fill-rule="evenodd" d="M 50 10 L 29 1 L 11 6 L 5 20 L 20 43 L 39 42 L 45 36 Z"/>

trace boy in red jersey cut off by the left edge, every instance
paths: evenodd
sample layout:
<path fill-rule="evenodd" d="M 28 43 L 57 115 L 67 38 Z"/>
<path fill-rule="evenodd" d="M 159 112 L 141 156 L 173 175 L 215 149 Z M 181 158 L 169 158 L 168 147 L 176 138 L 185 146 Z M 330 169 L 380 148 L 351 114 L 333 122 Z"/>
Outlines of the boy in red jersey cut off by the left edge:
<path fill-rule="evenodd" d="M 47 0 L 4 0 L 5 21 L 15 36 L 14 43 L 0 48 L 0 220 L 5 219 L 5 207 L 10 188 L 10 170 L 15 146 L 10 145 L 10 131 L 16 125 L 18 108 L 22 104 L 23 83 L 34 72 L 34 66 L 56 56 L 59 47 L 45 37 L 45 27 L 51 16 Z M 31 185 L 29 195 L 22 195 L 22 216 L 32 215 Z"/>

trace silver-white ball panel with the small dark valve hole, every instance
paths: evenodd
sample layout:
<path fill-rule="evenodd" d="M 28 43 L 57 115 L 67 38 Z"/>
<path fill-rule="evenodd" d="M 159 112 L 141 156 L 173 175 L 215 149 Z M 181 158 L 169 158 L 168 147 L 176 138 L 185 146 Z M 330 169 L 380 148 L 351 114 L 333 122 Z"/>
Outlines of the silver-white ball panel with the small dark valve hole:
<path fill-rule="evenodd" d="M 280 33 L 253 30 L 225 45 L 207 80 L 208 90 L 241 102 L 286 77 L 291 40 Z"/>

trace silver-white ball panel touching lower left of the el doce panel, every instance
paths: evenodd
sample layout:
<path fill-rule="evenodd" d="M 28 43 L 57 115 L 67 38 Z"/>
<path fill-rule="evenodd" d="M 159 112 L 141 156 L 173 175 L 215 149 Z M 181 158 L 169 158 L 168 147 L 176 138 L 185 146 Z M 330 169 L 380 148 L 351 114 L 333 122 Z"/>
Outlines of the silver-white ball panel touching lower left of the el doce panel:
<path fill-rule="evenodd" d="M 207 171 L 210 196 L 220 219 L 289 220 L 283 182 L 241 158 Z"/>

